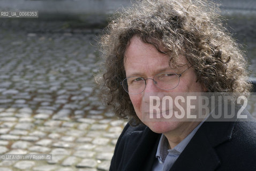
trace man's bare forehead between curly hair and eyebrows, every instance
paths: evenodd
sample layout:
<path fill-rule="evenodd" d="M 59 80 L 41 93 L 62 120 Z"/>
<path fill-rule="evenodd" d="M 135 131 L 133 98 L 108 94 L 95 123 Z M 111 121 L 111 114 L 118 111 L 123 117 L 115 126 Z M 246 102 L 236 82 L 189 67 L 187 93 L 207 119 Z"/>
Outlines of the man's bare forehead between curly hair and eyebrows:
<path fill-rule="evenodd" d="M 186 63 L 185 57 L 181 56 L 182 63 Z M 133 36 L 124 53 L 124 67 L 126 76 L 145 73 L 157 74 L 160 71 L 171 69 L 170 57 L 159 52 L 154 45 L 144 43 L 140 37 Z"/>

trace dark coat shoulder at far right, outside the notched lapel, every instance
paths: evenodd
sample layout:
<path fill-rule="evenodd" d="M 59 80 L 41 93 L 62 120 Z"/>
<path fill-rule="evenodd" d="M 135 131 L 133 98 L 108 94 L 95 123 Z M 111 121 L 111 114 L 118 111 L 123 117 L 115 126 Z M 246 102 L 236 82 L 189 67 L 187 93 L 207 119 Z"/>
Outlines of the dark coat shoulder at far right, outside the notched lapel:
<path fill-rule="evenodd" d="M 216 147 L 219 170 L 256 170 L 256 120 L 236 121 L 229 141 Z"/>

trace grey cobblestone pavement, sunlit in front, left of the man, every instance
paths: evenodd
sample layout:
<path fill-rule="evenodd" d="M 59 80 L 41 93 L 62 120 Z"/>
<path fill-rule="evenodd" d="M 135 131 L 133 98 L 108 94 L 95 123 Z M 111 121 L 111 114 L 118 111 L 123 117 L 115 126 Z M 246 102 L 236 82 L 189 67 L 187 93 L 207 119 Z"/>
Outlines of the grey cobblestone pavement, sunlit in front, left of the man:
<path fill-rule="evenodd" d="M 0 154 L 52 154 L 52 160 L 0 160 L 0 170 L 108 170 L 125 122 L 97 98 L 97 30 L 2 26 Z"/>

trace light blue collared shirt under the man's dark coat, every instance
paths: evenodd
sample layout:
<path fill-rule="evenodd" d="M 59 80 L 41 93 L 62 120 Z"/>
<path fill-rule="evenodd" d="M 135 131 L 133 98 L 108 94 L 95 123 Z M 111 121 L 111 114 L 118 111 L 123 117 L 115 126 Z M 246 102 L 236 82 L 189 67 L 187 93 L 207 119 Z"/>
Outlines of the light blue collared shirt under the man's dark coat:
<path fill-rule="evenodd" d="M 162 134 L 157 151 L 156 151 L 156 159 L 153 165 L 153 171 L 169 171 L 174 162 L 179 157 L 180 153 L 185 149 L 187 144 L 189 144 L 191 138 L 200 128 L 203 122 L 199 123 L 197 127 L 195 127 L 186 138 L 183 139 L 182 142 L 177 144 L 174 149 L 168 150 L 168 139 Z"/>

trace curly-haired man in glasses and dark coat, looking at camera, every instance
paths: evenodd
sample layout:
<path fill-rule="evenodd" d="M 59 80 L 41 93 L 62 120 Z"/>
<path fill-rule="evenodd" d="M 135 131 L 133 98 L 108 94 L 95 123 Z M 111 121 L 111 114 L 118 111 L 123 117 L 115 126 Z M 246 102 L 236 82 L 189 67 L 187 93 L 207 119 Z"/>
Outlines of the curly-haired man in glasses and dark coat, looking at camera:
<path fill-rule="evenodd" d="M 209 122 L 212 115 L 159 121 L 150 110 L 152 95 L 250 91 L 246 60 L 216 9 L 198 0 L 148 0 L 109 24 L 102 36 L 102 94 L 118 116 L 130 119 L 110 170 L 256 170 L 256 125 L 246 111 L 243 122 Z"/>

